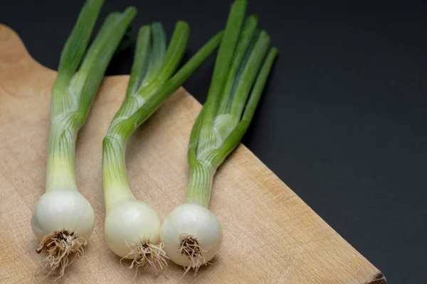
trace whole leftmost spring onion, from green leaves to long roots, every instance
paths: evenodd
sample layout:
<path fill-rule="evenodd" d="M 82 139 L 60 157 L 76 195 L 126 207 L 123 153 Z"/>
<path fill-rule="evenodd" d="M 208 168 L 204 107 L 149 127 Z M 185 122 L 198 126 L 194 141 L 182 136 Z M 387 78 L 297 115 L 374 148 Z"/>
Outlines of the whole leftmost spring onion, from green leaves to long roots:
<path fill-rule="evenodd" d="M 111 13 L 85 53 L 102 4 L 102 0 L 86 1 L 61 53 L 52 89 L 46 192 L 31 217 L 33 232 L 41 241 L 36 251 L 46 249 L 46 264 L 51 271 L 58 268 L 60 277 L 72 261 L 68 256 L 83 254 L 95 225 L 93 207 L 75 181 L 75 139 L 107 65 L 137 13 L 133 7 Z"/>

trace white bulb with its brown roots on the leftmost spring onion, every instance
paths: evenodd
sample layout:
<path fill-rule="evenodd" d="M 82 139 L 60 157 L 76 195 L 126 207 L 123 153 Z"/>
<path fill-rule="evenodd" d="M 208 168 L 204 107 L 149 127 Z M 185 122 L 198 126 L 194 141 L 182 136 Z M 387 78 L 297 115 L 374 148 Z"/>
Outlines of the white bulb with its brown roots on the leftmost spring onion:
<path fill-rule="evenodd" d="M 83 256 L 83 246 L 94 226 L 93 207 L 74 189 L 48 190 L 36 203 L 31 217 L 31 229 L 41 243 L 36 252 L 46 249 L 46 264 L 51 271 L 59 268 L 59 278 L 71 263 L 70 254 Z"/>

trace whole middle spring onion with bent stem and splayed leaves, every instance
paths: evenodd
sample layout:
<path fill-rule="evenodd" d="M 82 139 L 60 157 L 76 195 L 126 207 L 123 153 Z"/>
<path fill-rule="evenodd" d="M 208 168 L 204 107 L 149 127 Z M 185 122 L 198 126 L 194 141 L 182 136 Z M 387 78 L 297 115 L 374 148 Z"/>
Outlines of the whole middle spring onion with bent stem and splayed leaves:
<path fill-rule="evenodd" d="M 137 200 L 130 190 L 125 148 L 132 132 L 214 52 L 222 32 L 174 74 L 188 37 L 189 26 L 183 21 L 176 23 L 168 48 L 160 23 L 139 29 L 126 96 L 103 140 L 105 239 L 117 256 L 132 260 L 130 268 L 153 266 L 157 273 L 158 268 L 167 264 L 160 244 L 159 215 L 147 203 Z"/>

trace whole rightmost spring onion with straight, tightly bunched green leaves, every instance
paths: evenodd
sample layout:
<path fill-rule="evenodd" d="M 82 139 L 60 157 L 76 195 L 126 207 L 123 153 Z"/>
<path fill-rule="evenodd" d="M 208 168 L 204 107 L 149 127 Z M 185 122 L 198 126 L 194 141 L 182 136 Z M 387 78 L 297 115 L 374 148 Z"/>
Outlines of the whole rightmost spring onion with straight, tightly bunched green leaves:
<path fill-rule="evenodd" d="M 236 0 L 218 50 L 209 94 L 191 131 L 189 185 L 184 204 L 164 220 L 161 241 L 174 263 L 195 273 L 218 253 L 222 229 L 209 207 L 216 169 L 241 141 L 265 87 L 275 56 L 247 3 Z M 264 60 L 265 59 L 265 60 Z"/>

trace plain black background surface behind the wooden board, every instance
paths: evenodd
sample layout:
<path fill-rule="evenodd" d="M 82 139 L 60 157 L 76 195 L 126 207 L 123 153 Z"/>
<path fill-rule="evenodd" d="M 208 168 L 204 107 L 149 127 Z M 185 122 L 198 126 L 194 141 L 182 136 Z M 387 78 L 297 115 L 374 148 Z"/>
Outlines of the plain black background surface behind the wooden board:
<path fill-rule="evenodd" d="M 231 1 L 135 5 L 135 30 L 188 21 L 187 57 L 223 28 Z M 0 22 L 56 69 L 83 1 L 2 0 Z M 243 143 L 366 256 L 389 283 L 427 283 L 427 1 L 252 0 L 280 50 Z M 101 21 L 98 21 L 99 26 Z M 107 74 L 127 74 L 133 49 Z M 184 87 L 206 99 L 214 57 Z"/>

